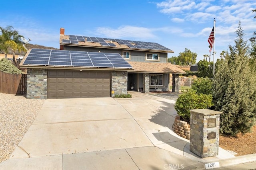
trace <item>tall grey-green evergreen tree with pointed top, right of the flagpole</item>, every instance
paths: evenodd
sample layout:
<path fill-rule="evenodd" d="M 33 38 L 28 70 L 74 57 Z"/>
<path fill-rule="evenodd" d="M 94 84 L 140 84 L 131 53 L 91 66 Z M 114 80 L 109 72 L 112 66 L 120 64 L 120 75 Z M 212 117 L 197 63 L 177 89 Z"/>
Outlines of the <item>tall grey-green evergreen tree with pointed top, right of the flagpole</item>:
<path fill-rule="evenodd" d="M 248 58 L 241 23 L 235 45 L 220 61 L 213 81 L 213 103 L 220 115 L 220 132 L 236 136 L 247 133 L 256 117 L 256 79 Z"/>

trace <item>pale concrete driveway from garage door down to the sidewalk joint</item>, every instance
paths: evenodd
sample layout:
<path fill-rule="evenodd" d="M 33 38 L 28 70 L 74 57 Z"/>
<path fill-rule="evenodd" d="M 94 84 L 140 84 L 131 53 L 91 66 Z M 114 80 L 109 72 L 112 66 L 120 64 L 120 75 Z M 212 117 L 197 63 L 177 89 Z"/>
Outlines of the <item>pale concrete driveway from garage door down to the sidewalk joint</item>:
<path fill-rule="evenodd" d="M 132 96 L 46 100 L 10 158 L 146 147 L 171 141 L 160 132 L 172 133 L 174 101 L 138 92 Z"/>

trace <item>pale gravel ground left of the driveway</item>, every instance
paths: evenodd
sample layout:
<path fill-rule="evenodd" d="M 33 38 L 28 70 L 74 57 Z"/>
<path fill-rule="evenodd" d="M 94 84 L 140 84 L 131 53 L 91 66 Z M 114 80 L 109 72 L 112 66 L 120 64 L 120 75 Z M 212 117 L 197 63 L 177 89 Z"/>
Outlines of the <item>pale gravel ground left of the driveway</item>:
<path fill-rule="evenodd" d="M 0 92 L 0 162 L 10 157 L 44 101 Z"/>

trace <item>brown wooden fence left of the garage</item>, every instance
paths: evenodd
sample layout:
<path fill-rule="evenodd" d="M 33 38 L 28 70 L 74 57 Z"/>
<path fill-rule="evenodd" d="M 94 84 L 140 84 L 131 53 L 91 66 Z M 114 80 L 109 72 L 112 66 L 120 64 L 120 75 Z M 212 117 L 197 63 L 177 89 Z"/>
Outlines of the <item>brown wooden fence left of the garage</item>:
<path fill-rule="evenodd" d="M 27 74 L 0 72 L 0 92 L 24 95 L 27 93 Z"/>

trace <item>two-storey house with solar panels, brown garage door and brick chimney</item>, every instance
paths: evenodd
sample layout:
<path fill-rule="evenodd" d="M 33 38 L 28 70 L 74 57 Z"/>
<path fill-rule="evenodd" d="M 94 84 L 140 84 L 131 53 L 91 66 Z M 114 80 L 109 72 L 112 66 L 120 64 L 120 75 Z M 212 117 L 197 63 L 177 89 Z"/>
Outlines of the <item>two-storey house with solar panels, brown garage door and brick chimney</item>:
<path fill-rule="evenodd" d="M 27 68 L 27 98 L 111 97 L 128 90 L 173 92 L 185 73 L 167 62 L 172 50 L 158 44 L 65 35 L 60 50 L 31 49 L 20 63 Z"/>

